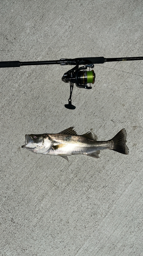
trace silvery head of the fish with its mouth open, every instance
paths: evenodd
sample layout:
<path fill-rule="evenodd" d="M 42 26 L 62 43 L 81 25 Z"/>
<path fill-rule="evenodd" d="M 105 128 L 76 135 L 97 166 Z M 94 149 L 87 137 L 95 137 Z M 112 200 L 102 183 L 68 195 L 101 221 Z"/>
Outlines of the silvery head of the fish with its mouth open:
<path fill-rule="evenodd" d="M 46 154 L 51 147 L 51 144 L 50 139 L 44 134 L 26 134 L 25 145 L 23 145 L 22 148 L 34 153 Z"/>

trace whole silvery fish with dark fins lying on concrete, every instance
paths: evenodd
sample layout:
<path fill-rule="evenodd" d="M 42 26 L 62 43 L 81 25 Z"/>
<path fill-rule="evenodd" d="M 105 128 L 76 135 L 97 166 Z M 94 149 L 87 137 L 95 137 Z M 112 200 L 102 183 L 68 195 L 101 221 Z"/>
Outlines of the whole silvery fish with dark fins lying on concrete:
<path fill-rule="evenodd" d="M 91 131 L 77 135 L 74 126 L 57 134 L 26 134 L 22 148 L 34 153 L 61 156 L 69 161 L 68 156 L 83 154 L 99 158 L 101 150 L 113 150 L 128 155 L 126 130 L 122 129 L 115 137 L 107 141 L 97 141 Z"/>

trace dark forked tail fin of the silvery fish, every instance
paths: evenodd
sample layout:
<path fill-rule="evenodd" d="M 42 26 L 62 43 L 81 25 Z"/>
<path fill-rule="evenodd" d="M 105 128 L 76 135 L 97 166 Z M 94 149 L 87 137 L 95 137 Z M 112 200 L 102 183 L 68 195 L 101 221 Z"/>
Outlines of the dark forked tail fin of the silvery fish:
<path fill-rule="evenodd" d="M 113 142 L 113 147 L 111 148 L 114 151 L 117 151 L 122 154 L 129 154 L 129 148 L 126 145 L 126 130 L 122 129 L 115 137 L 111 139 Z"/>

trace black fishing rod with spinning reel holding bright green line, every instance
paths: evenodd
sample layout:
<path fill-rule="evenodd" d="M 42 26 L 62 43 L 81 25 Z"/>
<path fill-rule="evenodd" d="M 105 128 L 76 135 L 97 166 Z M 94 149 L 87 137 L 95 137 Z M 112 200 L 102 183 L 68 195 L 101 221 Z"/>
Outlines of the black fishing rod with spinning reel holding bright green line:
<path fill-rule="evenodd" d="M 60 60 L 45 60 L 45 61 L 0 61 L 0 68 L 16 68 L 20 66 L 32 66 L 32 65 L 75 65 L 74 68 L 67 71 L 63 77 L 62 81 L 70 83 L 70 97 L 68 99 L 69 103 L 65 104 L 65 108 L 74 110 L 75 106 L 72 105 L 72 91 L 74 83 L 78 88 L 92 89 L 91 83 L 95 82 L 95 72 L 93 70 L 94 64 L 103 64 L 104 62 L 112 61 L 128 61 L 128 60 L 143 60 L 142 57 L 125 57 L 125 58 L 104 58 L 104 57 L 85 57 L 85 58 L 75 58 L 75 59 L 60 59 Z M 79 67 L 83 65 L 82 67 Z M 87 69 L 89 69 L 87 71 Z M 92 70 L 91 70 L 92 69 Z M 88 86 L 90 84 L 90 86 Z"/>

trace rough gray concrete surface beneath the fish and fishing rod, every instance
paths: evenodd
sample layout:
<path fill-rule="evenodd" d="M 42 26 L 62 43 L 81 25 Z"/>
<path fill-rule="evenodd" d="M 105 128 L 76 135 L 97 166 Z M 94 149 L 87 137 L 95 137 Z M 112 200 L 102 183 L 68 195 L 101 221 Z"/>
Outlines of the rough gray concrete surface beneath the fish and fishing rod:
<path fill-rule="evenodd" d="M 1 0 L 1 61 L 142 56 L 142 0 Z M 95 65 L 90 91 L 69 66 L 1 69 L 0 255 L 143 255 L 143 61 Z M 127 131 L 128 156 L 36 155 L 25 134 L 71 125 L 99 140 Z"/>

